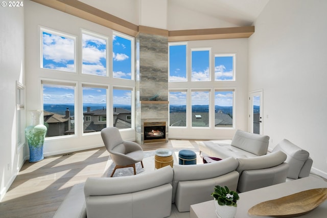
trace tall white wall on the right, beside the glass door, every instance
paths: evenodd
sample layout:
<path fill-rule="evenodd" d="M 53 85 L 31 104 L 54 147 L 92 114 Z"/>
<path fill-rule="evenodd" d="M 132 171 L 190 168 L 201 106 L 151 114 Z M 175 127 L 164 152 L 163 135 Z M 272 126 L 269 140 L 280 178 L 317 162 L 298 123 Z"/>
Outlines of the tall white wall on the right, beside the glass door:
<path fill-rule="evenodd" d="M 249 91 L 263 89 L 264 134 L 310 152 L 327 178 L 327 1 L 269 1 L 249 38 Z"/>

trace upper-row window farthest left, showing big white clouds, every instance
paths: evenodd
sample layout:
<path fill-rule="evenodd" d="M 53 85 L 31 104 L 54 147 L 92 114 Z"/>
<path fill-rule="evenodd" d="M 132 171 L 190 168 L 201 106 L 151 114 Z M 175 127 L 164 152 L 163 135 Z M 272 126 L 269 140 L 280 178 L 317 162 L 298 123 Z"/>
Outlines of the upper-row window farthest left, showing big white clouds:
<path fill-rule="evenodd" d="M 41 30 L 41 68 L 76 72 L 76 37 Z"/>

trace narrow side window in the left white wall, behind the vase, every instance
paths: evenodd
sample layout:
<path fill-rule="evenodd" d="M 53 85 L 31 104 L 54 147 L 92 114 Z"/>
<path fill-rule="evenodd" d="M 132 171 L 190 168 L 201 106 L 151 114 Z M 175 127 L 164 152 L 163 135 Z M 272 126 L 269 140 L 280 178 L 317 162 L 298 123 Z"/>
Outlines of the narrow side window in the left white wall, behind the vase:
<path fill-rule="evenodd" d="M 17 146 L 24 143 L 24 126 L 25 126 L 25 87 L 21 83 L 16 84 L 16 133 Z"/>

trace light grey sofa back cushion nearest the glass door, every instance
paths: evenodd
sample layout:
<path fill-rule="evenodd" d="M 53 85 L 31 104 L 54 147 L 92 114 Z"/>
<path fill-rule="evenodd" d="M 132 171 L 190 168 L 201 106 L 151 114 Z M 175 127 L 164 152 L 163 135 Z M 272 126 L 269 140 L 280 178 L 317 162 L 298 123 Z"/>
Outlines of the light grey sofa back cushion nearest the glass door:
<path fill-rule="evenodd" d="M 231 145 L 246 150 L 254 155 L 266 155 L 268 151 L 269 136 L 247 133 L 238 129 L 231 141 Z"/>

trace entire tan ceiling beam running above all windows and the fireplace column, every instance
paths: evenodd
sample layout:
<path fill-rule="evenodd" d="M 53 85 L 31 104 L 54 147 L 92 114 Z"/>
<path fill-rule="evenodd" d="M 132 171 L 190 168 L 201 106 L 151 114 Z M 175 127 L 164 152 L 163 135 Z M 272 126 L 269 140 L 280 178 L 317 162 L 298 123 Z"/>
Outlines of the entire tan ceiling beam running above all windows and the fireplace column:
<path fill-rule="evenodd" d="M 137 26 L 122 18 L 79 2 L 77 0 L 31 0 L 56 10 L 92 21 L 115 31 L 136 36 L 139 32 L 168 36 L 168 41 L 190 41 L 227 38 L 248 38 L 254 33 L 254 26 L 196 30 L 164 30 Z"/>

